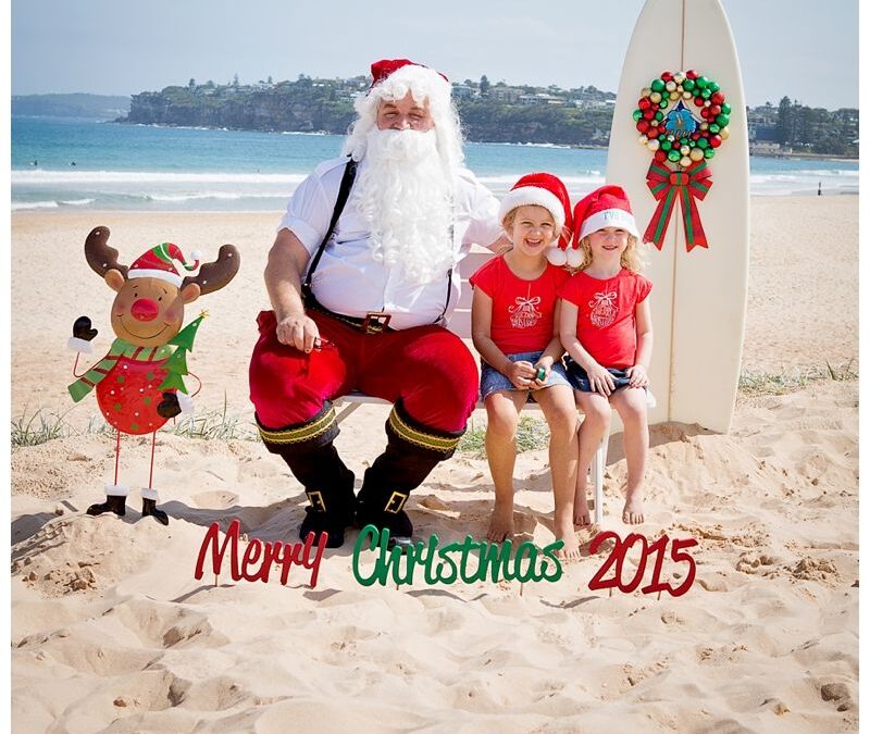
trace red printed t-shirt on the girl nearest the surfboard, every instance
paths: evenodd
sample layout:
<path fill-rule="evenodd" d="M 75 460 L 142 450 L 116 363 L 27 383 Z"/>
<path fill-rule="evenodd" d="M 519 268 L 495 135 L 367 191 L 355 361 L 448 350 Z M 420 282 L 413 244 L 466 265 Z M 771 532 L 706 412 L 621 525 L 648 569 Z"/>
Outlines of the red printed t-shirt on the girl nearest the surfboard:
<path fill-rule="evenodd" d="M 643 275 L 624 268 L 611 278 L 575 273 L 559 296 L 577 307 L 577 339 L 601 366 L 634 365 L 637 352 L 635 309 L 652 289 Z"/>

